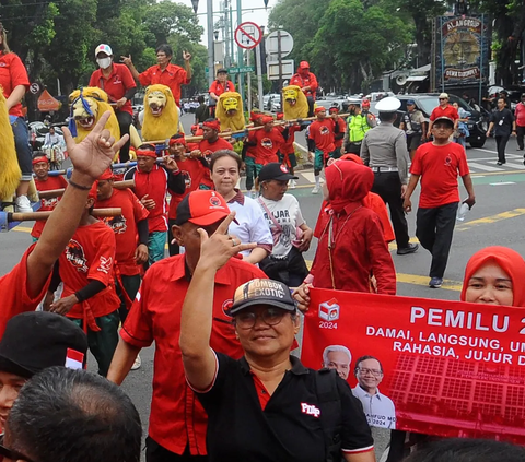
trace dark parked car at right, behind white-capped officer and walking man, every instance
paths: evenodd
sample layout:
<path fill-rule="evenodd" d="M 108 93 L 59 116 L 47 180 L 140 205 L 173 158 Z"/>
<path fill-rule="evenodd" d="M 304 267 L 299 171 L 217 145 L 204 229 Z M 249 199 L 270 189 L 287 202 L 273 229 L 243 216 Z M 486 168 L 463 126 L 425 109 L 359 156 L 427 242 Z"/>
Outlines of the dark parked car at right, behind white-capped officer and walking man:
<path fill-rule="evenodd" d="M 401 107 L 398 114 L 401 116 L 407 111 L 407 100 L 413 99 L 416 107 L 423 112 L 423 116 L 429 122 L 432 110 L 440 105 L 438 99 L 439 93 L 415 93 L 409 95 L 396 95 L 401 102 Z M 448 94 L 450 103 L 457 103 L 459 107 L 470 112 L 468 118 L 468 130 L 470 135 L 467 138 L 467 142 L 472 147 L 482 147 L 487 141 L 487 130 L 489 128 L 489 115 L 485 111 L 478 111 L 470 106 L 465 99 L 456 95 Z M 397 118 L 396 123 L 399 125 L 400 117 Z"/>

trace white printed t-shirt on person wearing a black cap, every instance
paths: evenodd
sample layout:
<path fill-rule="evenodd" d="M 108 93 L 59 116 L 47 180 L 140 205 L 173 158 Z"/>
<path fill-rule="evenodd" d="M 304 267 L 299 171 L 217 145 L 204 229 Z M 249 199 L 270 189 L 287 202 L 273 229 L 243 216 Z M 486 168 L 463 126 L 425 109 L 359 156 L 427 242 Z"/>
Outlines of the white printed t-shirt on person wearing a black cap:
<path fill-rule="evenodd" d="M 295 196 L 292 194 L 284 194 L 280 201 L 265 199 L 262 196 L 260 196 L 259 199 L 266 204 L 282 228 L 279 241 L 273 245 L 271 254 L 277 258 L 285 257 L 292 249 L 292 241 L 296 239 L 296 227 L 306 223 L 301 213 L 299 201 Z M 277 233 L 277 226 L 273 220 L 271 220 L 271 216 L 268 216 L 268 213 L 260 203 L 259 205 L 262 209 L 262 214 L 268 222 L 268 226 L 273 233 Z"/>

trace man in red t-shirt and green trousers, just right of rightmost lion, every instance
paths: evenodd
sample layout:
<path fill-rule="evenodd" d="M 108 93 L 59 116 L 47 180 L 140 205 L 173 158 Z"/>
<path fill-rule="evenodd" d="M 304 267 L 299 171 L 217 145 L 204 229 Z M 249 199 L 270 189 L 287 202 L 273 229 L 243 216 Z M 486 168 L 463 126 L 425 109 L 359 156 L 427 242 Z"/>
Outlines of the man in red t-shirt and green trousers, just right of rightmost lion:
<path fill-rule="evenodd" d="M 339 126 L 336 126 L 334 119 L 326 118 L 326 109 L 322 106 L 315 108 L 315 115 L 317 120 L 314 120 L 310 126 L 308 157 L 314 161 L 315 187 L 312 193 L 318 194 L 320 192 L 320 170 L 323 170 L 328 158 L 335 155 L 335 134 L 336 130 L 339 130 Z"/>

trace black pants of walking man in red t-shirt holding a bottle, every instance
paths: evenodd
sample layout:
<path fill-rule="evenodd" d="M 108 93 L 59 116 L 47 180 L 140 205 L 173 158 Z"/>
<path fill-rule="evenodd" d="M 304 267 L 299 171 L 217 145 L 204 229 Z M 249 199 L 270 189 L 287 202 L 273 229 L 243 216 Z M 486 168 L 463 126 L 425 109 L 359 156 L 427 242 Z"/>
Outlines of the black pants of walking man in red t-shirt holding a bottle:
<path fill-rule="evenodd" d="M 416 236 L 432 253 L 430 277 L 443 277 L 451 251 L 458 202 L 435 209 L 418 209 Z"/>

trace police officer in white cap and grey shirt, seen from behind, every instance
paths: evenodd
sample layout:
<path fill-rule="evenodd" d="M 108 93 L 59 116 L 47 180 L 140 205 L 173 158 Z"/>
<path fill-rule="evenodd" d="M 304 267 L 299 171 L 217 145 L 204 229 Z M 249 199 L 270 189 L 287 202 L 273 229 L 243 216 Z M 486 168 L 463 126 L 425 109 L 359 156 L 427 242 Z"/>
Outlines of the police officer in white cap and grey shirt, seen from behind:
<path fill-rule="evenodd" d="M 390 209 L 390 220 L 396 235 L 397 254 L 418 250 L 409 242 L 408 224 L 402 209 L 402 197 L 408 185 L 408 153 L 405 132 L 394 127 L 401 102 L 396 97 L 383 98 L 375 106 L 381 125 L 364 135 L 361 158 L 375 174 L 372 192 L 381 196 Z"/>

